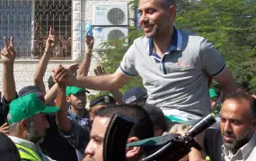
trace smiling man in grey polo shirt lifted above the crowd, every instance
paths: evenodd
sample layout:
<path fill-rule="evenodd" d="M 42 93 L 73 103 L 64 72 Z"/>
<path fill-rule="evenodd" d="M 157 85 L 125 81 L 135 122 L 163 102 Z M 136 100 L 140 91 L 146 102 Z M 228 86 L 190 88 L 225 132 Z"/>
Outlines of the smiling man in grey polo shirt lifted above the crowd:
<path fill-rule="evenodd" d="M 138 11 L 145 36 L 129 47 L 119 69 L 95 77 L 69 76 L 68 85 L 119 89 L 139 75 L 148 94 L 147 103 L 160 107 L 164 114 L 184 119 L 209 114 L 208 80 L 215 79 L 224 96 L 235 90 L 223 56 L 206 38 L 173 26 L 175 0 L 140 0 Z M 57 68 L 53 76 L 62 70 Z"/>

